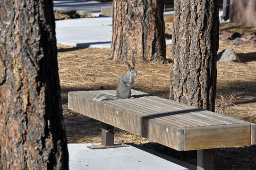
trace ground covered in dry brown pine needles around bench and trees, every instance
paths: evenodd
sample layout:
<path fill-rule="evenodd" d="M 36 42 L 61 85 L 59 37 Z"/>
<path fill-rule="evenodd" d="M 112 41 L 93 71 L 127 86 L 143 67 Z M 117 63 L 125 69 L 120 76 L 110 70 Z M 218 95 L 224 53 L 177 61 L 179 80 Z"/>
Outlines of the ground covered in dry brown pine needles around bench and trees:
<path fill-rule="evenodd" d="M 172 23 L 167 23 L 166 34 L 171 35 Z M 256 33 L 255 28 L 221 25 L 229 34 Z M 240 62 L 218 62 L 216 112 L 256 123 L 256 48 L 254 42 L 231 45 L 220 35 L 219 52 L 233 48 Z M 68 110 L 68 92 L 80 90 L 115 89 L 124 65 L 108 59 L 109 49 L 58 45 L 58 62 L 64 124 L 68 143 L 101 143 L 101 122 Z M 172 58 L 167 46 L 167 58 Z M 169 98 L 170 64 L 137 63 L 138 76 L 133 88 Z M 161 144 L 115 129 L 115 142 L 143 144 L 145 147 L 196 164 L 196 152 L 177 152 Z M 214 150 L 214 170 L 256 170 L 256 145 Z"/>

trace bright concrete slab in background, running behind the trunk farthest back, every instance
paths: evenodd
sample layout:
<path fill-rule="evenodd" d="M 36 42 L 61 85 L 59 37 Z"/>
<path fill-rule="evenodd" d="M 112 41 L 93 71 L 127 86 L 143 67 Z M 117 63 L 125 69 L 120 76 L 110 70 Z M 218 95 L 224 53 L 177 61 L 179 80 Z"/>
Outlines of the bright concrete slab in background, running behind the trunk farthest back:
<path fill-rule="evenodd" d="M 56 21 L 57 43 L 74 47 L 110 48 L 112 17 L 78 18 Z M 171 40 L 166 40 L 170 45 Z"/>

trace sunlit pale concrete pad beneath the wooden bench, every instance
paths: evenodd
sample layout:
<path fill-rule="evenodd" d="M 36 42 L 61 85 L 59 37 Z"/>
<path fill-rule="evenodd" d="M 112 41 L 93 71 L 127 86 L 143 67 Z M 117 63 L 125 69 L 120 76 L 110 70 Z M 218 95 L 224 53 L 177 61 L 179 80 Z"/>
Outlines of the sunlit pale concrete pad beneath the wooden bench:
<path fill-rule="evenodd" d="M 69 170 L 196 170 L 196 166 L 136 144 L 94 149 L 68 144 Z"/>

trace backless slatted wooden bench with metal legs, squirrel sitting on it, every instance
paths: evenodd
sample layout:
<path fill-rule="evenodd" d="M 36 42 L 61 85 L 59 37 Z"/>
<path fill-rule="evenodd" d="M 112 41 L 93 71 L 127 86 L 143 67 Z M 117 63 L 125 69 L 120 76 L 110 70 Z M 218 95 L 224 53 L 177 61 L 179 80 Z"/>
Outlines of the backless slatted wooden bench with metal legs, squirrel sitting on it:
<path fill-rule="evenodd" d="M 93 102 L 115 90 L 68 93 L 68 109 L 102 121 L 102 145 L 118 127 L 178 151 L 197 150 L 197 169 L 213 169 L 213 148 L 255 144 L 255 124 L 132 90 L 133 99 Z"/>

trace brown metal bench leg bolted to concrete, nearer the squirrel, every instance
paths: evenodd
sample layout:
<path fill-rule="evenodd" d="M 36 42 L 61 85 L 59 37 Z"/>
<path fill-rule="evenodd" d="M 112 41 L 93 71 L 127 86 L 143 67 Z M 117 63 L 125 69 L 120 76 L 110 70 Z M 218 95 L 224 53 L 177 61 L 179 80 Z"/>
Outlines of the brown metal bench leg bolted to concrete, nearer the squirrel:
<path fill-rule="evenodd" d="M 114 127 L 102 122 L 102 145 L 114 145 Z"/>

